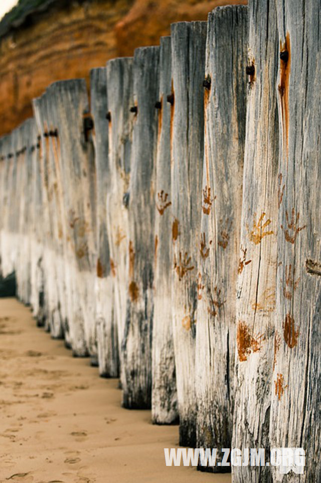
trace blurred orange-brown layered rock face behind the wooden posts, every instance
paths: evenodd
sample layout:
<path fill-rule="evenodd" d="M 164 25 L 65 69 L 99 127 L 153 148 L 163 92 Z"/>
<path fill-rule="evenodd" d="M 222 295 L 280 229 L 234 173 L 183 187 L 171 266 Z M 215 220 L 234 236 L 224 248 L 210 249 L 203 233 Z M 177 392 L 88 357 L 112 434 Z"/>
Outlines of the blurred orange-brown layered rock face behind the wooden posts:
<path fill-rule="evenodd" d="M 206 20 L 218 5 L 246 0 L 91 0 L 55 3 L 0 39 L 0 136 L 32 115 L 54 81 L 85 77 L 108 59 L 159 43 L 170 24 Z"/>

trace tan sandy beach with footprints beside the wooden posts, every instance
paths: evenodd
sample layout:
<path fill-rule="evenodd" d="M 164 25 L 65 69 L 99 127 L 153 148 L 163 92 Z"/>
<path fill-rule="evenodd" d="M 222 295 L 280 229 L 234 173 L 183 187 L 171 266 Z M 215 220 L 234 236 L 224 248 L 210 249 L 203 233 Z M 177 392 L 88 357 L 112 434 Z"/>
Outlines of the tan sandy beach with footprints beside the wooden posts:
<path fill-rule="evenodd" d="M 118 380 L 36 327 L 30 310 L 0 300 L 0 482 L 228 483 L 230 475 L 167 467 L 178 426 L 121 407 Z"/>

